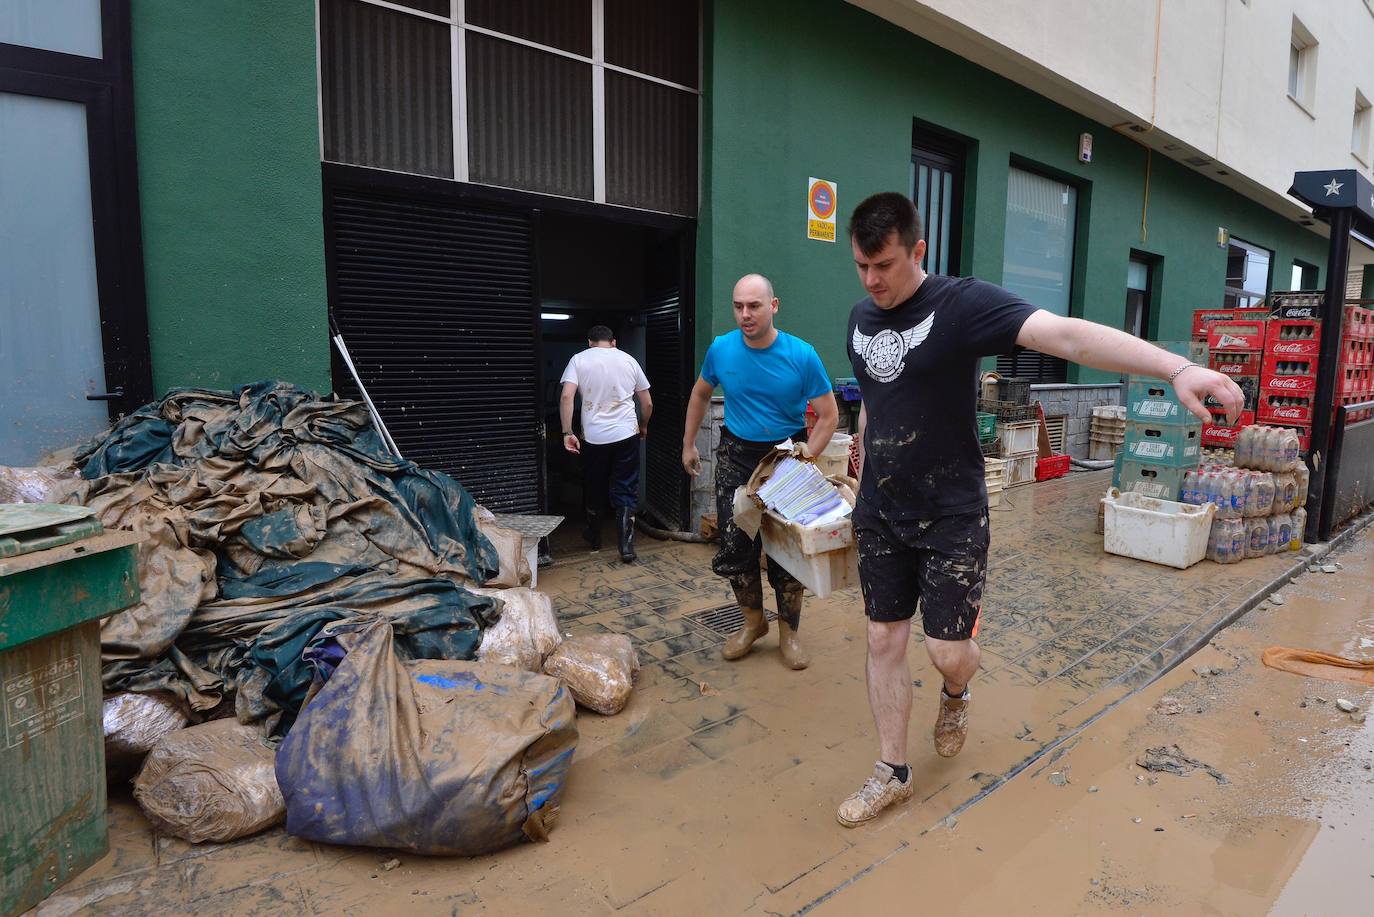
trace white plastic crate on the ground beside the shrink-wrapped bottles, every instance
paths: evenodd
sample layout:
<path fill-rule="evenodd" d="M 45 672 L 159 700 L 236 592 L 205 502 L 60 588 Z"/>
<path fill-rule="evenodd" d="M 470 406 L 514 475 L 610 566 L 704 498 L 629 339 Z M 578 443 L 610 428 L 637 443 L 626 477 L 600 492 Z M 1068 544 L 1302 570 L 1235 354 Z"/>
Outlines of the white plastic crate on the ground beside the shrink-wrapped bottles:
<path fill-rule="evenodd" d="M 1102 498 L 1102 549 L 1107 554 L 1187 569 L 1206 555 L 1216 506 L 1191 506 L 1143 494 Z"/>

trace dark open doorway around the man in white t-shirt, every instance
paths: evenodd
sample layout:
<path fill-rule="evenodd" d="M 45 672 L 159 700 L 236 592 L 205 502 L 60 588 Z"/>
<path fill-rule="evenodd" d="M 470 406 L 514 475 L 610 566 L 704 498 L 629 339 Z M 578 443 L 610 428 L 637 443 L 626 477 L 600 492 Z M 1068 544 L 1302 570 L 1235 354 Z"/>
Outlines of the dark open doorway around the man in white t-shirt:
<path fill-rule="evenodd" d="M 585 550 L 581 459 L 563 450 L 558 415 L 567 362 L 605 324 L 616 345 L 644 368 L 654 401 L 640 445 L 639 502 L 657 524 L 682 527 L 687 481 L 679 466 L 690 315 L 690 234 L 587 216 L 541 213 L 537 223 L 540 411 L 544 428 L 545 511 L 566 517 L 552 538 L 555 555 Z M 581 430 L 581 399 L 574 429 Z M 603 544 L 614 543 L 611 532 Z"/>

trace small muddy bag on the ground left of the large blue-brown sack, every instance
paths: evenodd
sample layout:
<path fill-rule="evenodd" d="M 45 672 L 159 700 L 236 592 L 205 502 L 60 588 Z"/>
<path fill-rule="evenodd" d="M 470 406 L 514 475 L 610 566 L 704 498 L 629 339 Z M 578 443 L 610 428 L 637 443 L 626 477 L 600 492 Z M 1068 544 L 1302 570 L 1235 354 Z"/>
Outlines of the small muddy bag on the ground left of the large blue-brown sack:
<path fill-rule="evenodd" d="M 246 837 L 282 821 L 286 807 L 262 731 L 216 719 L 169 733 L 133 781 L 153 826 L 194 844 Z"/>

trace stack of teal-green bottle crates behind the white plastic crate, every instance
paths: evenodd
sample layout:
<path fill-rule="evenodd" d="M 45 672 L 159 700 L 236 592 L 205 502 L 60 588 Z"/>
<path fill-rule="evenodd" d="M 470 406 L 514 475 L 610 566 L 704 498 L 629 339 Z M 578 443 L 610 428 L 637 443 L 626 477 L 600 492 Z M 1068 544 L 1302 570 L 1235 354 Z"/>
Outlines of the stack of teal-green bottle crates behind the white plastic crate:
<path fill-rule="evenodd" d="M 1178 500 L 1183 474 L 1202 459 L 1202 423 L 1183 407 L 1173 386 L 1131 377 L 1127 382 L 1125 441 L 1113 487 Z"/>

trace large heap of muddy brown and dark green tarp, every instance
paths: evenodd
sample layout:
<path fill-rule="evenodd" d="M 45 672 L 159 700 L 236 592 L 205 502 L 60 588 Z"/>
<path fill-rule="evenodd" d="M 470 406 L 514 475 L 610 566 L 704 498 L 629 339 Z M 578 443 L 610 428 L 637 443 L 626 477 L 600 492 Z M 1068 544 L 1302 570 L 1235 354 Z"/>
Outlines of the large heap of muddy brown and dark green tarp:
<path fill-rule="evenodd" d="M 473 498 L 387 452 L 357 401 L 283 382 L 176 389 L 76 454 L 63 502 L 146 536 L 143 601 L 102 630 L 107 692 L 170 692 L 196 718 L 235 697 L 282 734 L 302 648 L 354 615 L 393 619 L 411 659 L 473 659 L 500 601 Z"/>

